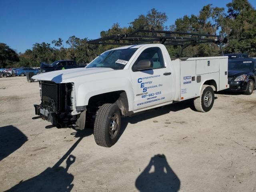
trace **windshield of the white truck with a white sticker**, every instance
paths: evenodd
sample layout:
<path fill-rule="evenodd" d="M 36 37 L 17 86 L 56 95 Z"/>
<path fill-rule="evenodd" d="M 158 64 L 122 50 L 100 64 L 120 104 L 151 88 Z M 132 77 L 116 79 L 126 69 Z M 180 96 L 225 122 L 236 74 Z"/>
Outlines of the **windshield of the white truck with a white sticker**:
<path fill-rule="evenodd" d="M 136 48 L 129 48 L 104 52 L 86 68 L 106 67 L 112 69 L 123 69 L 136 50 Z"/>

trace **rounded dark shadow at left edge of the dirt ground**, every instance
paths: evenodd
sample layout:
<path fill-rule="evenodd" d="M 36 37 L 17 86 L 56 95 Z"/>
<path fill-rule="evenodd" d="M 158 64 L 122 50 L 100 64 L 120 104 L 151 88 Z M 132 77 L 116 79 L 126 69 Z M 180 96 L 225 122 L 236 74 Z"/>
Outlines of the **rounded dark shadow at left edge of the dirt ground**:
<path fill-rule="evenodd" d="M 0 161 L 20 148 L 27 140 L 26 135 L 12 125 L 0 127 Z"/>

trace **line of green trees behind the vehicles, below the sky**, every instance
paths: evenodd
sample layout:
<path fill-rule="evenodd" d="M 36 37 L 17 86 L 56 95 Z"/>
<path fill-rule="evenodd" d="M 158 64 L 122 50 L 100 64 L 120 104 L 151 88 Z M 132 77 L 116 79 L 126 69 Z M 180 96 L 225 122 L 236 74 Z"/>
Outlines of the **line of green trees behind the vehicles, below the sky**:
<path fill-rule="evenodd" d="M 220 35 L 228 38 L 224 45 L 224 53 L 248 53 L 256 56 L 256 10 L 248 0 L 232 0 L 224 8 L 203 6 L 198 15 L 185 15 L 176 19 L 174 24 L 166 25 L 166 13 L 156 9 L 147 14 L 141 14 L 127 27 L 114 23 L 106 31 L 100 32 L 100 37 L 113 34 L 129 33 L 137 29 L 170 30 L 176 32 L 196 32 Z M 32 49 L 24 53 L 16 53 L 8 45 L 0 43 L 0 67 L 32 66 L 38 67 L 40 62 L 51 63 L 55 60 L 76 60 L 78 63 L 88 63 L 102 52 L 116 47 L 115 45 L 90 45 L 88 38 L 80 39 L 70 36 L 64 46 L 62 38 L 51 43 L 35 43 Z M 178 57 L 180 48 L 167 46 L 172 58 Z M 184 49 L 182 56 L 217 56 L 220 49 L 216 44 L 199 44 Z"/>

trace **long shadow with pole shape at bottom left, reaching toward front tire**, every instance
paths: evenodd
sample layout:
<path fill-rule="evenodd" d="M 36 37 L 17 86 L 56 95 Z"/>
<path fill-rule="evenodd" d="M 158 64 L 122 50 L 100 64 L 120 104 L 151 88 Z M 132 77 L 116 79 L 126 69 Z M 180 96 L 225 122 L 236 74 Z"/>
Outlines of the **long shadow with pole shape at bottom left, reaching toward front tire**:
<path fill-rule="evenodd" d="M 58 160 L 52 167 L 46 168 L 42 173 L 25 181 L 20 181 L 17 185 L 13 186 L 6 192 L 50 192 L 50 191 L 63 191 L 70 192 L 74 187 L 72 184 L 74 176 L 68 173 L 68 168 L 75 162 L 76 157 L 71 155 L 71 152 L 76 148 L 82 138 L 92 134 L 91 130 L 84 130 L 72 133 L 79 139 L 72 145 L 72 147 Z M 67 159 L 67 160 L 66 160 Z M 66 160 L 66 168 L 60 166 Z"/>

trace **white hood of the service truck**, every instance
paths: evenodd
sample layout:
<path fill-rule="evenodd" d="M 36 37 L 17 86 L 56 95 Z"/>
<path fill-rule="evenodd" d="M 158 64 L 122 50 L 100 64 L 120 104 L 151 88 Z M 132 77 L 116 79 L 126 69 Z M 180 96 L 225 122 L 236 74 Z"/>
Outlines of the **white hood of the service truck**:
<path fill-rule="evenodd" d="M 103 73 L 108 71 L 114 71 L 112 68 L 74 68 L 74 69 L 65 69 L 52 72 L 46 72 L 32 76 L 34 80 L 42 81 L 53 81 L 55 83 L 68 83 L 72 82 L 73 78 L 80 76 L 86 76 L 90 74 Z"/>

